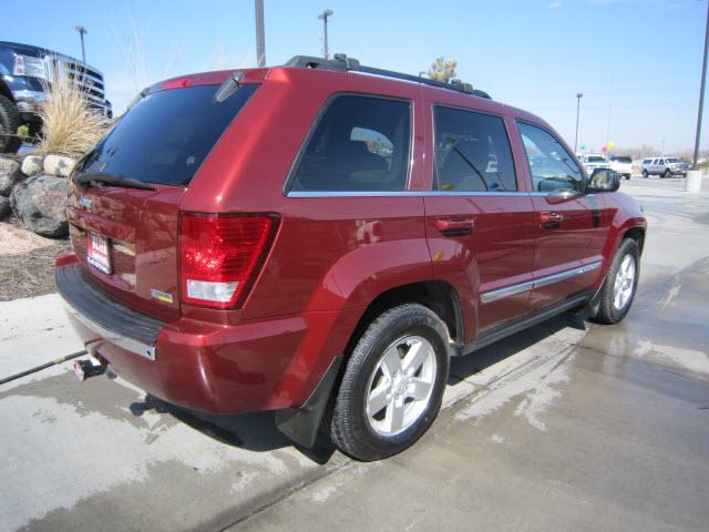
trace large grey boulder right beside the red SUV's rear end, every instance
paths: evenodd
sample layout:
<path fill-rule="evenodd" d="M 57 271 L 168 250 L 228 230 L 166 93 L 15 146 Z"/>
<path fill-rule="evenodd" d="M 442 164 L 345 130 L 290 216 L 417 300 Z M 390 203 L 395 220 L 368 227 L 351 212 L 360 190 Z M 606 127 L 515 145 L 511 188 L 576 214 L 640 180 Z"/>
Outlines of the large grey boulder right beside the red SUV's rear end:
<path fill-rule="evenodd" d="M 10 195 L 12 211 L 28 229 L 50 238 L 66 236 L 68 181 L 40 174 L 18 184 Z"/>

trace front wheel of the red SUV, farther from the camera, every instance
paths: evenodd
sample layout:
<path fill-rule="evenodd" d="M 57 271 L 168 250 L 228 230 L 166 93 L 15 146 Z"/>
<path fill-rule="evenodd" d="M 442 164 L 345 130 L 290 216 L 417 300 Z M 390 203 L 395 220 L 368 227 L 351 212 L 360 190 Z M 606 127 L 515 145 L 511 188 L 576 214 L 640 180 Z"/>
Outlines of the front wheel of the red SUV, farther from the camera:
<path fill-rule="evenodd" d="M 617 324 L 630 310 L 640 273 L 638 243 L 625 238 L 606 274 L 600 293 L 600 306 L 594 320 L 600 324 Z"/>

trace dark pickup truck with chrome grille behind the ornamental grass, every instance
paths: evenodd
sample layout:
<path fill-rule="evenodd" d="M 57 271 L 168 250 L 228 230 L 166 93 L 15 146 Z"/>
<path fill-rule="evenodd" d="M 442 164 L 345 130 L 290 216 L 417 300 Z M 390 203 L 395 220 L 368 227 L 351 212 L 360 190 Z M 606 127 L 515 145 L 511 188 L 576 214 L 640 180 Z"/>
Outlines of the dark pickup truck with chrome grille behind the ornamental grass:
<path fill-rule="evenodd" d="M 14 153 L 20 139 L 8 136 L 27 124 L 39 130 L 38 105 L 48 99 L 45 86 L 55 73 L 69 75 L 79 83 L 92 106 L 112 115 L 105 99 L 103 74 L 78 59 L 44 48 L 0 41 L 0 153 Z"/>

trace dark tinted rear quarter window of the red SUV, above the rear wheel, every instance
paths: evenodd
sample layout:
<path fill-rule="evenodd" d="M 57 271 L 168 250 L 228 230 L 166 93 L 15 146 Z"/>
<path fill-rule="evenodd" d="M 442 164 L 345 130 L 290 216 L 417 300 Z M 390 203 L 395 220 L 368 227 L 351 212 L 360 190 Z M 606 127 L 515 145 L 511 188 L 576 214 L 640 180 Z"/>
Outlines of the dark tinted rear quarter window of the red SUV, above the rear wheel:
<path fill-rule="evenodd" d="M 409 102 L 337 96 L 308 140 L 291 190 L 404 191 L 410 142 Z"/>

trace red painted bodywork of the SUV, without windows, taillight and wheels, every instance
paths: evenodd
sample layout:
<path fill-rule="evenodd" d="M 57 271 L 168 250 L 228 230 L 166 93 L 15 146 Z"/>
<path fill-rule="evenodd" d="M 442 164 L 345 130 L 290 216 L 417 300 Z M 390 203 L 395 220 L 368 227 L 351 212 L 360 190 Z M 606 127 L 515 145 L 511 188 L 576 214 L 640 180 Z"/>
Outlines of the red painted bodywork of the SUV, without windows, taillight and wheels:
<path fill-rule="evenodd" d="M 216 89 L 229 75 L 194 74 L 189 85 Z M 80 337 L 95 341 L 92 348 L 119 375 L 171 402 L 219 413 L 301 405 L 332 358 L 345 351 L 367 307 L 384 291 L 446 282 L 461 300 L 464 340 L 472 341 L 535 308 L 597 288 L 623 234 L 645 227 L 635 202 L 621 194 L 555 204 L 531 194 L 515 119 L 553 130 L 523 111 L 454 91 L 337 71 L 247 70 L 242 82 L 260 86 L 187 187 L 73 188 L 69 201 L 76 258 L 92 284 L 122 305 L 165 323 L 154 361 L 74 323 Z M 162 83 L 151 88 L 160 90 Z M 410 102 L 407 194 L 285 195 L 287 176 L 314 121 L 328 99 L 342 92 Z M 504 119 L 517 194 L 427 194 L 432 186 L 436 103 Z M 92 202 L 91 208 L 82 206 L 81 195 Z M 557 229 L 540 226 L 540 213 L 547 211 L 563 214 Z M 273 245 L 240 308 L 181 303 L 178 217 L 186 212 L 278 216 Z M 470 218 L 471 235 L 441 233 L 445 221 L 461 218 Z M 114 241 L 111 275 L 86 265 L 86 232 Z M 569 283 L 481 304 L 483 293 L 598 259 L 604 262 L 602 269 Z M 66 264 L 71 259 L 63 258 L 58 267 Z M 155 299 L 152 289 L 172 295 L 173 303 Z"/>

